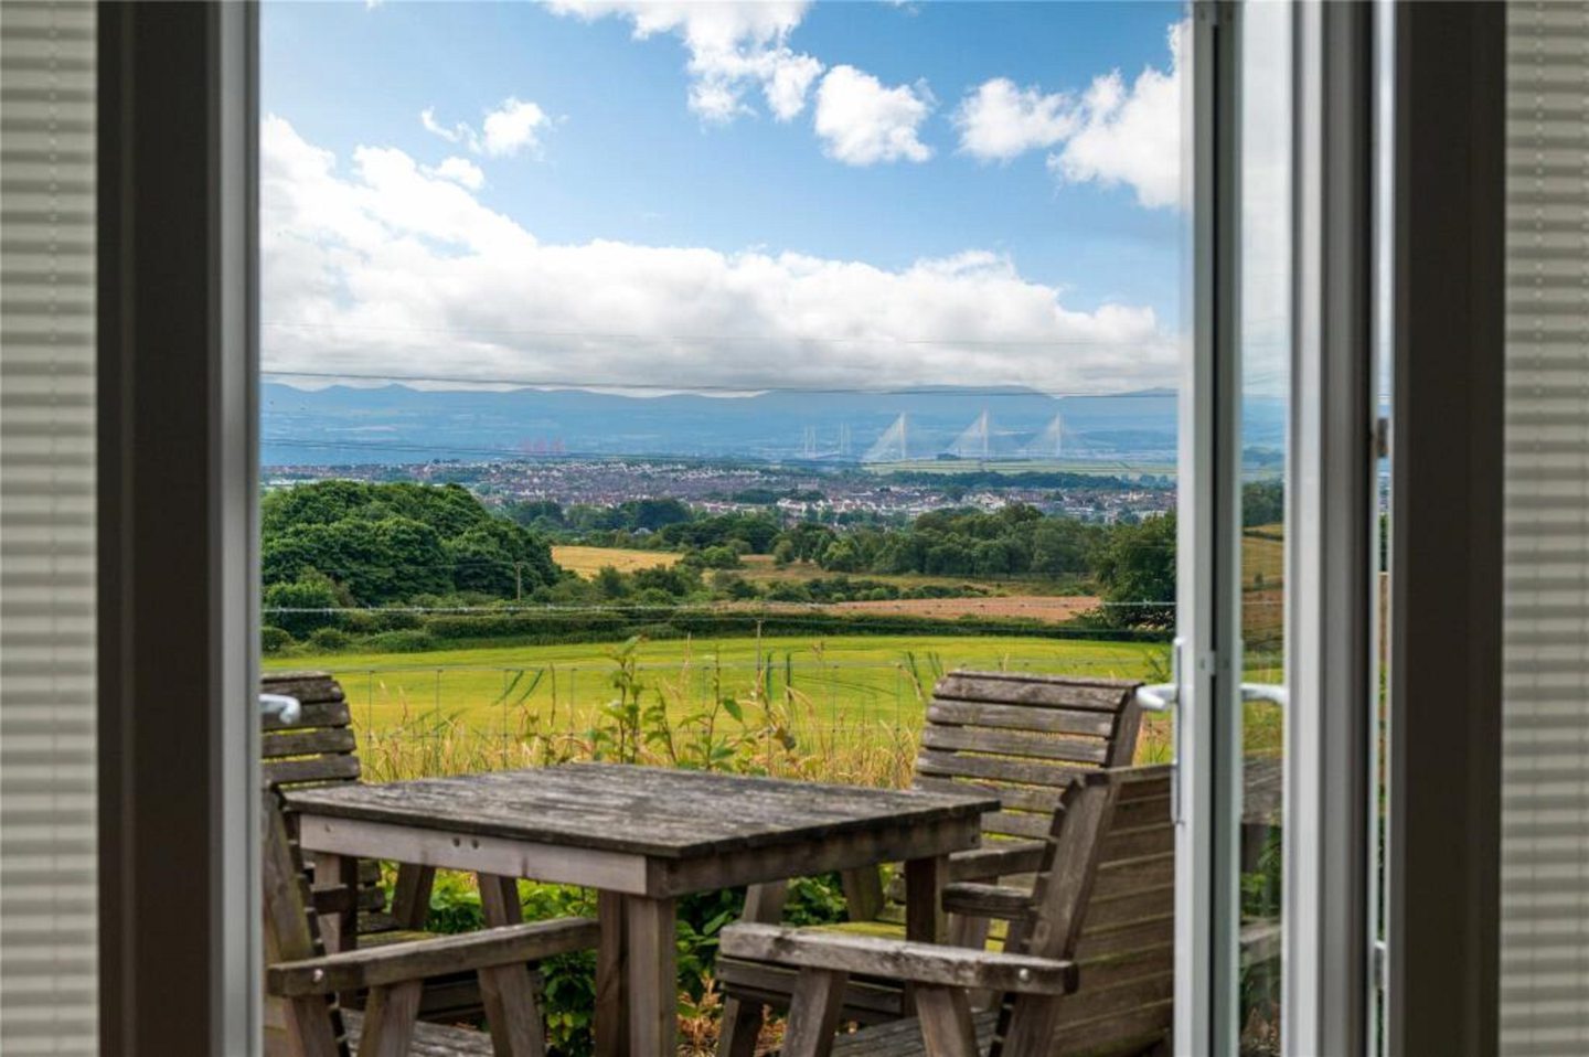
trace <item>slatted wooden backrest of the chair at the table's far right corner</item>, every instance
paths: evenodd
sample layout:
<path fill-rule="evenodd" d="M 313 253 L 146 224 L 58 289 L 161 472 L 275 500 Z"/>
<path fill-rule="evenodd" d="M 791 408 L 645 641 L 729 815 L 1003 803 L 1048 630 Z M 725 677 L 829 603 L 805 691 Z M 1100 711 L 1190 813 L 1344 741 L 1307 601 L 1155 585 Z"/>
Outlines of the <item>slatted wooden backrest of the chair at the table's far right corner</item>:
<path fill-rule="evenodd" d="M 1138 682 L 953 671 L 938 680 L 915 761 L 918 788 L 987 792 L 990 839 L 1042 839 L 1073 779 L 1130 766 Z"/>

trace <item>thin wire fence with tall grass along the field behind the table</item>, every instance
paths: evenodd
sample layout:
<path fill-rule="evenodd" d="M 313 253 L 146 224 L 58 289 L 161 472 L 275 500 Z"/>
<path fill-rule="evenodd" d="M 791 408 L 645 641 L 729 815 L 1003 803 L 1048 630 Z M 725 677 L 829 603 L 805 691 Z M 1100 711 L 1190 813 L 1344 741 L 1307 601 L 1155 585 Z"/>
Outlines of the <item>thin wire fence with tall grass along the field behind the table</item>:
<path fill-rule="evenodd" d="M 933 683 L 952 668 L 1163 674 L 1160 656 L 1142 649 L 1063 656 L 907 652 L 888 661 L 767 650 L 755 660 L 639 660 L 628 674 L 615 660 L 588 656 L 524 666 L 332 666 L 332 674 L 346 695 L 365 769 L 383 780 L 597 755 L 597 731 L 610 731 L 615 704 L 632 699 L 650 710 L 651 731 L 666 717 L 698 750 L 702 739 L 740 749 L 764 739 L 755 755 L 769 771 L 893 784 L 907 777 Z"/>

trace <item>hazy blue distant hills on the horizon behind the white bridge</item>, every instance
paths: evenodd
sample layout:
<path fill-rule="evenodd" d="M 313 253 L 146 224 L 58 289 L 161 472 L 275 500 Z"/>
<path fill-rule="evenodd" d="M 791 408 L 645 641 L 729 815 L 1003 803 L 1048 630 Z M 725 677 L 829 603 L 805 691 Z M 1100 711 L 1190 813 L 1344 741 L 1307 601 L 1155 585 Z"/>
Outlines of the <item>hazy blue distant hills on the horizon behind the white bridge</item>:
<path fill-rule="evenodd" d="M 1246 443 L 1278 448 L 1281 404 L 1255 401 L 1247 415 Z M 1176 396 L 1165 389 L 1060 399 L 1019 388 L 640 397 L 265 383 L 261 416 L 265 466 L 537 455 L 860 461 L 871 453 L 895 461 L 899 434 L 909 459 L 950 450 L 979 458 L 985 450 L 999 459 L 1060 451 L 1066 459 L 1166 463 L 1176 450 Z"/>

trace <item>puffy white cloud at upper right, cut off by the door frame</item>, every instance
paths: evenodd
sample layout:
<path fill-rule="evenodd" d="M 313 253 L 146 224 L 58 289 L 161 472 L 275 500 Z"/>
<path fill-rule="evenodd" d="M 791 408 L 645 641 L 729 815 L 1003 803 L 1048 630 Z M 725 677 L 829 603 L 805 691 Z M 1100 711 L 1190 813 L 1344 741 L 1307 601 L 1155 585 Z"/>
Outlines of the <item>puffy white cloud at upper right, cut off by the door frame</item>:
<path fill-rule="evenodd" d="M 1044 94 L 993 78 L 961 100 L 953 122 L 960 149 L 1009 161 L 1049 149 L 1049 172 L 1066 183 L 1128 186 L 1147 208 L 1179 207 L 1181 92 L 1185 22 L 1170 27 L 1170 68 L 1144 68 L 1127 83 L 1119 70 L 1093 78 L 1081 97 Z"/>

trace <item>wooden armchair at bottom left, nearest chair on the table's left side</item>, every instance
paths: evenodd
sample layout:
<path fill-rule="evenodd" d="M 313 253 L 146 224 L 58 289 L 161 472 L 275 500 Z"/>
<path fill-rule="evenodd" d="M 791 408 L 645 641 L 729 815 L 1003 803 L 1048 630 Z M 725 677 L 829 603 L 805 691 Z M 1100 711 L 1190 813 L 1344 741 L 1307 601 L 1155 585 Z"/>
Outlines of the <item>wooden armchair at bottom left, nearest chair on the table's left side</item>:
<path fill-rule="evenodd" d="M 586 917 L 388 943 L 326 954 L 308 877 L 281 796 L 262 804 L 267 1057 L 542 1057 L 540 958 L 596 947 L 601 927 Z M 472 971 L 491 1033 L 421 1024 L 427 978 Z M 364 1012 L 342 1009 L 338 992 L 367 990 Z"/>

